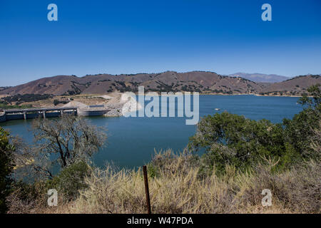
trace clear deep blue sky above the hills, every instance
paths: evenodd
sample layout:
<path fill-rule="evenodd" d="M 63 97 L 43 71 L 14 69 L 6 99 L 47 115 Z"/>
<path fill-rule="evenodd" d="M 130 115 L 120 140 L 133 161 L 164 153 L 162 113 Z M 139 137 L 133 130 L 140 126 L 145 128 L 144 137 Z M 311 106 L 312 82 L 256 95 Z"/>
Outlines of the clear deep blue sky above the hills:
<path fill-rule="evenodd" d="M 58 6 L 48 21 L 47 6 Z M 261 6 L 272 6 L 262 21 Z M 321 73 L 321 1 L 0 1 L 0 86 L 45 76 Z"/>

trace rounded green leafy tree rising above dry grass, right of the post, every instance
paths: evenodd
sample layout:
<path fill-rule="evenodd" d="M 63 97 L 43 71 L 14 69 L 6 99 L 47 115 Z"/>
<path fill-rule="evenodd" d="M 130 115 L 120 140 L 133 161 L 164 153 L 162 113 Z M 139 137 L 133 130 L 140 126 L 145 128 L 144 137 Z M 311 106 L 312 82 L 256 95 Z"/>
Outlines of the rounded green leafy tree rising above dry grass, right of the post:
<path fill-rule="evenodd" d="M 225 112 L 200 120 L 197 133 L 190 138 L 189 148 L 205 149 L 208 155 L 204 156 L 221 167 L 229 164 L 244 168 L 261 157 L 281 157 L 286 145 L 280 124 Z"/>

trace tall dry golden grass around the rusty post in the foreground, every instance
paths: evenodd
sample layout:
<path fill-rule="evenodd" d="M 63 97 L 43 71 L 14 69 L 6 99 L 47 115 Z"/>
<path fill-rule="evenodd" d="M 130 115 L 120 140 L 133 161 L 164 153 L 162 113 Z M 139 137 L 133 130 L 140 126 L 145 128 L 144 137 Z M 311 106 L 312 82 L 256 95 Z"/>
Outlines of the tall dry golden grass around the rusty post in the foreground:
<path fill-rule="evenodd" d="M 149 167 L 153 213 L 320 213 L 321 167 L 316 162 L 274 174 L 267 165 L 247 173 L 226 167 L 225 175 L 214 171 L 200 179 L 192 155 L 167 151 L 154 161 Z M 88 189 L 75 201 L 41 212 L 146 213 L 141 170 L 96 169 L 86 183 Z M 263 189 L 272 192 L 271 207 L 261 205 Z"/>

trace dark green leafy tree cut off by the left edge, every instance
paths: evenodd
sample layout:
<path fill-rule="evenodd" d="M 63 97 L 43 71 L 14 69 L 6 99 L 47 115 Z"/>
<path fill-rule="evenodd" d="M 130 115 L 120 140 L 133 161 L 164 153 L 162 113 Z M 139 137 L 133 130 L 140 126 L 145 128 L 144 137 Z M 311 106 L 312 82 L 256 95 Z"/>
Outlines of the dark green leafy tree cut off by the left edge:
<path fill-rule="evenodd" d="M 9 144 L 9 133 L 0 127 L 0 213 L 5 213 L 6 197 L 9 195 L 11 172 L 14 169 L 12 152 L 14 146 Z"/>

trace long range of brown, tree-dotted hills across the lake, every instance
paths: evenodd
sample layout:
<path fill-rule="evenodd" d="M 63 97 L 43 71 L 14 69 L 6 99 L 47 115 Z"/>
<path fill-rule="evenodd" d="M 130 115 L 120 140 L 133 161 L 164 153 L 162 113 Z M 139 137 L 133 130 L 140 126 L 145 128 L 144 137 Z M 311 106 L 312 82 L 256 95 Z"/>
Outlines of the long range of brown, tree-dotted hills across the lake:
<path fill-rule="evenodd" d="M 309 86 L 321 84 L 321 76 L 297 76 L 279 83 L 262 83 L 246 78 L 220 76 L 214 72 L 191 71 L 177 73 L 138 74 L 98 74 L 77 76 L 54 76 L 41 78 L 19 86 L 1 88 L 0 95 L 15 94 L 103 94 L 113 91 L 138 91 L 138 86 L 144 86 L 145 91 L 178 92 L 190 91 L 213 94 L 260 94 L 260 95 L 302 95 L 307 93 Z"/>

